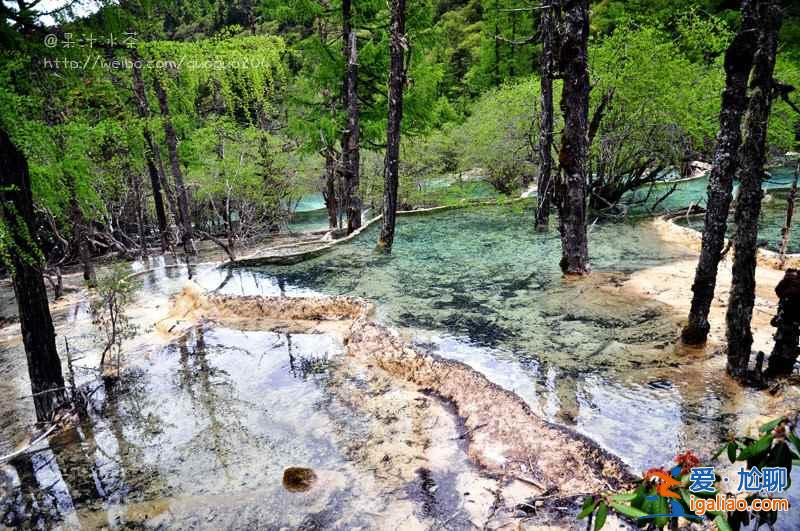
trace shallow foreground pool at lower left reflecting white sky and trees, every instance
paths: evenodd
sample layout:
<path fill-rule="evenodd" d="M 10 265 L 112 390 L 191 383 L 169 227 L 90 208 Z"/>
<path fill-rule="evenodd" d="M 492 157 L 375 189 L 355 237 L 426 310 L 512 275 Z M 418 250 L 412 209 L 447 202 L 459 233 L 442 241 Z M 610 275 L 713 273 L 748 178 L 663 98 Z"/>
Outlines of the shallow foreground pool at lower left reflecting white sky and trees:
<path fill-rule="evenodd" d="M 367 383 L 341 352 L 326 335 L 201 326 L 129 355 L 116 385 L 84 384 L 77 430 L 0 467 L 0 527 L 368 529 L 408 516 L 397 504 L 415 484 L 379 481 L 358 458 L 375 420 L 354 407 Z M 307 492 L 284 488 L 292 466 L 314 470 Z"/>

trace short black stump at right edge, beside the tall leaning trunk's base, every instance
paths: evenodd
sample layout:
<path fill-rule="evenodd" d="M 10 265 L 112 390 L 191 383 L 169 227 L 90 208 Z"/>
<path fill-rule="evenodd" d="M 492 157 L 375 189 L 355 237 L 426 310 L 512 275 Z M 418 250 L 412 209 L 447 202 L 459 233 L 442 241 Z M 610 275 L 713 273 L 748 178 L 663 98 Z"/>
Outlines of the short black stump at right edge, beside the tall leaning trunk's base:
<path fill-rule="evenodd" d="M 766 376 L 791 374 L 797 362 L 800 342 L 800 271 L 788 269 L 775 287 L 778 313 L 772 319 L 775 347 L 769 357 Z"/>

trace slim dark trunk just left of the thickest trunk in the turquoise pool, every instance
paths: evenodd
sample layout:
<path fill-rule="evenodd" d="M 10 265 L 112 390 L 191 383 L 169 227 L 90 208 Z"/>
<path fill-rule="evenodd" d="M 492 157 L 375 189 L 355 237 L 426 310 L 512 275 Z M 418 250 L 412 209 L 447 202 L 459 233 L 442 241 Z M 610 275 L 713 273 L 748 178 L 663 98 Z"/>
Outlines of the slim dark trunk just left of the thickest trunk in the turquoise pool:
<path fill-rule="evenodd" d="M 542 2 L 539 32 L 542 35 L 541 57 L 541 116 L 539 130 L 539 181 L 536 186 L 539 204 L 536 208 L 536 228 L 545 230 L 550 222 L 550 198 L 553 172 L 553 42 L 555 14 L 550 2 Z"/>

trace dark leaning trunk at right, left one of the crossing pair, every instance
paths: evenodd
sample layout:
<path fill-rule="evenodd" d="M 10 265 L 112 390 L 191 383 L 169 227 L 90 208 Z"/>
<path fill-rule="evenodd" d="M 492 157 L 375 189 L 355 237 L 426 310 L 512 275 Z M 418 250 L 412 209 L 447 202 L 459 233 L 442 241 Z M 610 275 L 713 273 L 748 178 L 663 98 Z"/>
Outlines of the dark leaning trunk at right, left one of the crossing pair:
<path fill-rule="evenodd" d="M 742 0 L 742 26 L 725 53 L 725 90 L 719 113 L 719 132 L 714 163 L 708 180 L 705 228 L 692 284 L 689 321 L 681 333 L 687 345 L 700 345 L 708 337 L 708 312 L 717 284 L 717 267 L 725 243 L 733 177 L 738 167 L 742 114 L 747 106 L 747 80 L 758 45 L 757 3 Z"/>

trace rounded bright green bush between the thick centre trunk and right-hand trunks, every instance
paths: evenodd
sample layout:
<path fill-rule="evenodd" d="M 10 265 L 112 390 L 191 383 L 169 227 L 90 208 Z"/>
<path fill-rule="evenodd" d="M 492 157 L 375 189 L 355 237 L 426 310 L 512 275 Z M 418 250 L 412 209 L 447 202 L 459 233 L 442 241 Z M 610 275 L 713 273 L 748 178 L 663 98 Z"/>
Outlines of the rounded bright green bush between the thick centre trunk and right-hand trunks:
<path fill-rule="evenodd" d="M 728 37 L 714 33 L 715 27 L 691 26 L 686 31 L 693 36 L 688 47 L 709 39 L 722 41 L 715 46 L 727 46 Z M 704 31 L 708 38 L 701 37 Z M 693 62 L 680 44 L 654 27 L 625 26 L 590 48 L 593 106 L 613 91 L 601 135 L 624 134 L 626 144 L 635 143 L 673 163 L 682 155 L 670 153 L 676 136 L 685 137 L 695 150 L 714 138 L 724 86 L 721 63 Z M 602 141 L 595 147 L 601 145 Z"/>

